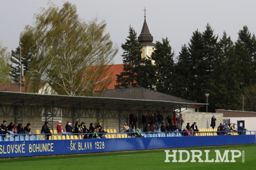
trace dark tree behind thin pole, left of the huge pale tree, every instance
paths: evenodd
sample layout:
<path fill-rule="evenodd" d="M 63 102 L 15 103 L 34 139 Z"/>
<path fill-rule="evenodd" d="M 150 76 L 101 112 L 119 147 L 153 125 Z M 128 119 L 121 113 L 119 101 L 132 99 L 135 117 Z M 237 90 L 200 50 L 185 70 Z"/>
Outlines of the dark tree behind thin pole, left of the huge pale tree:
<path fill-rule="evenodd" d="M 30 64 L 32 62 L 32 57 L 35 55 L 37 48 L 33 42 L 33 35 L 29 34 L 31 32 L 24 32 L 20 35 L 20 45 L 16 50 L 12 50 L 11 54 L 11 72 L 10 75 L 12 79 L 16 82 L 20 81 L 20 62 L 24 65 L 24 76 L 29 71 Z M 20 54 L 21 46 L 21 54 Z M 20 61 L 21 60 L 21 61 Z"/>

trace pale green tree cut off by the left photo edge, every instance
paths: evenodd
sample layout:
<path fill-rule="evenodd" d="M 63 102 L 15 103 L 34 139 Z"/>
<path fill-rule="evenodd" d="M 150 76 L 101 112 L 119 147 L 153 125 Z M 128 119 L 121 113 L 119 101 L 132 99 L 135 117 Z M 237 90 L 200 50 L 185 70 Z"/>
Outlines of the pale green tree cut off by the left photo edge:
<path fill-rule="evenodd" d="M 10 67 L 10 53 L 7 52 L 7 47 L 2 46 L 0 42 L 0 83 L 10 83 L 9 77 Z"/>

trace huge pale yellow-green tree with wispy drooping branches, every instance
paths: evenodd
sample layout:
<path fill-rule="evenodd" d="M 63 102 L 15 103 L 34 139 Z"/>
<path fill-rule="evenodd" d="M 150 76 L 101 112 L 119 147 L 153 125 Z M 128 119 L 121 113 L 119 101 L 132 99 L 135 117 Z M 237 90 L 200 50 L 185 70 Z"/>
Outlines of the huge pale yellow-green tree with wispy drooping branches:
<path fill-rule="evenodd" d="M 90 96 L 95 88 L 105 89 L 111 79 L 106 65 L 118 52 L 105 28 L 105 21 L 98 23 L 97 18 L 79 19 L 76 6 L 69 2 L 61 9 L 49 3 L 22 33 L 33 35 L 37 47 L 26 84 L 32 83 L 36 92 L 39 82 L 48 83 L 61 95 Z"/>

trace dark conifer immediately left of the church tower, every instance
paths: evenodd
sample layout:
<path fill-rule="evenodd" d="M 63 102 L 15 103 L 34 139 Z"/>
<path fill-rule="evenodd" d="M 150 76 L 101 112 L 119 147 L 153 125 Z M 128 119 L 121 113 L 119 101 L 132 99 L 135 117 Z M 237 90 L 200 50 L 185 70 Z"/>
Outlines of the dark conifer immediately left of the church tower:
<path fill-rule="evenodd" d="M 143 60 L 141 58 L 140 43 L 137 40 L 137 33 L 133 27 L 129 27 L 129 35 L 126 42 L 121 45 L 123 52 L 123 72 L 120 75 L 116 75 L 116 88 L 120 87 L 137 87 L 140 86 L 140 79 L 138 77 L 143 77 L 142 68 Z"/>

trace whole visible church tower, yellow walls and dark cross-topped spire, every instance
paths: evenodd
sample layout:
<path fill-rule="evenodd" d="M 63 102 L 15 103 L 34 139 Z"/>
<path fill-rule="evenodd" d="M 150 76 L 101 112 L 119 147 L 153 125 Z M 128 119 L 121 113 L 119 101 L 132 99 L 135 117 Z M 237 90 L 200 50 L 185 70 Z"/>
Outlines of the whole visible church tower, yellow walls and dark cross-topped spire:
<path fill-rule="evenodd" d="M 140 33 L 140 36 L 138 37 L 138 41 L 140 43 L 140 46 L 142 46 L 142 58 L 151 58 L 151 53 L 154 51 L 155 44 L 152 43 L 153 36 L 150 34 L 148 29 L 148 24 L 146 22 L 146 8 L 144 9 L 144 23 L 143 27 Z"/>

